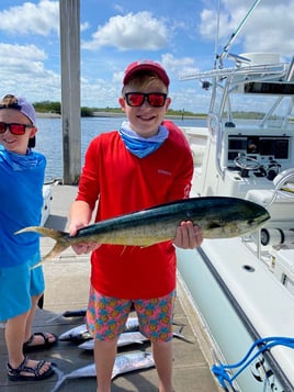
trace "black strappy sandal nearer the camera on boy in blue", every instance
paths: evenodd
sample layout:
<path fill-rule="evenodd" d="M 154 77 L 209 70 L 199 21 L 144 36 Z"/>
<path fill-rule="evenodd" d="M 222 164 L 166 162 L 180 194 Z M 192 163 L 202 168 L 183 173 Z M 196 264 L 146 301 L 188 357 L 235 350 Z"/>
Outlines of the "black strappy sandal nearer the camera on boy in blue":
<path fill-rule="evenodd" d="M 11 381 L 39 381 L 47 379 L 48 377 L 54 374 L 54 369 L 52 366 L 48 368 L 48 370 L 44 371 L 44 373 L 39 373 L 41 369 L 43 366 L 46 363 L 45 360 L 41 360 L 37 362 L 37 366 L 35 368 L 29 367 L 26 363 L 29 361 L 29 358 L 25 357 L 24 360 L 21 362 L 18 369 L 13 369 L 9 363 L 7 366 L 8 369 L 8 378 Z M 33 376 L 24 376 L 22 373 L 31 373 Z"/>

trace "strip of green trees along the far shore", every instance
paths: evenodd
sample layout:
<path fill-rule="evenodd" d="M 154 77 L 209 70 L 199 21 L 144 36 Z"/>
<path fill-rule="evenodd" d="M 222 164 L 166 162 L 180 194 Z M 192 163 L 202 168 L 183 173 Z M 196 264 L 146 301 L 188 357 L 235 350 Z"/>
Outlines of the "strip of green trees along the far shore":
<path fill-rule="evenodd" d="M 42 101 L 33 103 L 35 111 L 38 113 L 55 113 L 61 114 L 61 103 L 60 102 L 52 102 L 52 101 Z M 106 113 L 122 113 L 121 108 L 89 108 L 81 107 L 81 116 L 82 117 L 91 117 L 94 116 L 97 112 L 106 112 Z M 185 110 L 172 110 L 169 109 L 168 115 L 191 115 L 195 116 L 195 113 L 188 112 Z M 203 114 L 202 114 L 203 115 Z"/>

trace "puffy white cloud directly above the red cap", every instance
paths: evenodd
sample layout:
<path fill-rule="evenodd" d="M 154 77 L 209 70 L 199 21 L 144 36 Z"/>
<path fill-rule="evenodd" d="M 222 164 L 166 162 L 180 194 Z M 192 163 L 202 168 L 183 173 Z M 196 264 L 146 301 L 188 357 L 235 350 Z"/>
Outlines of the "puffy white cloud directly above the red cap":
<path fill-rule="evenodd" d="M 92 34 L 92 41 L 83 42 L 82 48 L 98 49 L 114 46 L 120 51 L 157 51 L 167 45 L 168 27 L 148 11 L 111 18 Z"/>

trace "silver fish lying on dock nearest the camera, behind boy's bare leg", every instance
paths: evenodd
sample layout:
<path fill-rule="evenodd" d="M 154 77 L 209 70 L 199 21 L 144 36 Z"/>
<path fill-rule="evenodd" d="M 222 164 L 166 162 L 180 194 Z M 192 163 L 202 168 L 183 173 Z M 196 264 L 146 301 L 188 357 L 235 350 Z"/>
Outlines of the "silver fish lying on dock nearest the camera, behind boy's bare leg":
<path fill-rule="evenodd" d="M 112 371 L 112 380 L 120 376 L 135 370 L 148 369 L 155 367 L 152 354 L 149 351 L 136 351 L 123 355 L 116 355 Z M 57 369 L 57 368 L 56 368 Z M 56 370 L 55 369 L 55 370 Z M 50 392 L 56 392 L 66 380 L 80 379 L 86 377 L 95 377 L 95 365 L 91 363 L 76 369 L 68 374 L 56 370 L 58 380 Z"/>

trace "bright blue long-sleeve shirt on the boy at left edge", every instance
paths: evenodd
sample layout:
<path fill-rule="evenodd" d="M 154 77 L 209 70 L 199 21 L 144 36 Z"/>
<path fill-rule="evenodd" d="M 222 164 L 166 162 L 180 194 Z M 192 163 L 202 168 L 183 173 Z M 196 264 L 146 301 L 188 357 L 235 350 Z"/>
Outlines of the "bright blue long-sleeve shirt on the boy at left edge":
<path fill-rule="evenodd" d="M 39 236 L 14 233 L 38 226 L 43 206 L 46 159 L 27 150 L 10 153 L 0 146 L 0 267 L 15 267 L 39 261 Z"/>

